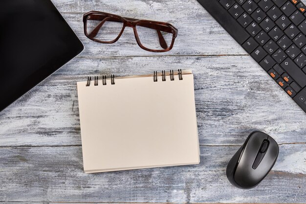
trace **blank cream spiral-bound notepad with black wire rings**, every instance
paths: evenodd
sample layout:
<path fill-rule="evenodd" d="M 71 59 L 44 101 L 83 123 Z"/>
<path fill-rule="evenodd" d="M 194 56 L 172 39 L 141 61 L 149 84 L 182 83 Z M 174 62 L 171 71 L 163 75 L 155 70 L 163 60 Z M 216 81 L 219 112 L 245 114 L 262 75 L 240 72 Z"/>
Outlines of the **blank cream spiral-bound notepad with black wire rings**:
<path fill-rule="evenodd" d="M 77 83 L 86 173 L 198 164 L 190 70 Z"/>

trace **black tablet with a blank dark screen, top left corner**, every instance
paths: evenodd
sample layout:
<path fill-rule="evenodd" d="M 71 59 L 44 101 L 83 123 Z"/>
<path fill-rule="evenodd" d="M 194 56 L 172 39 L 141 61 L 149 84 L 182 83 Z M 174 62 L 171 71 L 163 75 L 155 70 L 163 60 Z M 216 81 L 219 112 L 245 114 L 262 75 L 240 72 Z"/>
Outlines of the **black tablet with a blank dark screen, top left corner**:
<path fill-rule="evenodd" d="M 2 111 L 82 52 L 84 45 L 50 0 L 0 4 Z"/>

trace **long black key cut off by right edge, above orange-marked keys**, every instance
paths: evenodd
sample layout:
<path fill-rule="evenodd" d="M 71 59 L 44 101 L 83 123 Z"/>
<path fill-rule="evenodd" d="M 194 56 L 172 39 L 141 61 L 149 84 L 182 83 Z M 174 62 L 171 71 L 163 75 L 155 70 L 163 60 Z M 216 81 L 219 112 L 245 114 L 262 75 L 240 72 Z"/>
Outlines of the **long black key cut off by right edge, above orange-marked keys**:
<path fill-rule="evenodd" d="M 304 88 L 306 86 L 306 74 L 292 60 L 289 58 L 285 59 L 281 67 L 294 78 L 300 87 Z"/>

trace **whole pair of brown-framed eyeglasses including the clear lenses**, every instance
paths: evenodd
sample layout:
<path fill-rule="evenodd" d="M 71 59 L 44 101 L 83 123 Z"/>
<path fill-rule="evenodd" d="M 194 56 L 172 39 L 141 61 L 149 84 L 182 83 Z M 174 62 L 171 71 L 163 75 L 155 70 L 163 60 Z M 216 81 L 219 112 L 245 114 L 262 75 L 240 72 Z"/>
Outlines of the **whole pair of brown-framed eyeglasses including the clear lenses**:
<path fill-rule="evenodd" d="M 99 11 L 84 14 L 83 22 L 87 38 L 106 44 L 115 43 L 125 27 L 132 27 L 137 44 L 151 52 L 171 50 L 177 36 L 177 29 L 170 23 L 123 18 Z"/>

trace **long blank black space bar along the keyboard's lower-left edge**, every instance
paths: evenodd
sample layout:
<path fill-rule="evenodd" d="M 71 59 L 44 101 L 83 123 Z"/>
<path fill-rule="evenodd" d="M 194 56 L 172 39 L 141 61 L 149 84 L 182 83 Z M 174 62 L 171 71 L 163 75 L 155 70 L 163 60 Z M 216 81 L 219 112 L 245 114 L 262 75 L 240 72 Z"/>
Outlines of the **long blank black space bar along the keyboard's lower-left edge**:
<path fill-rule="evenodd" d="M 250 37 L 244 28 L 222 7 L 218 0 L 198 1 L 240 45 Z"/>

